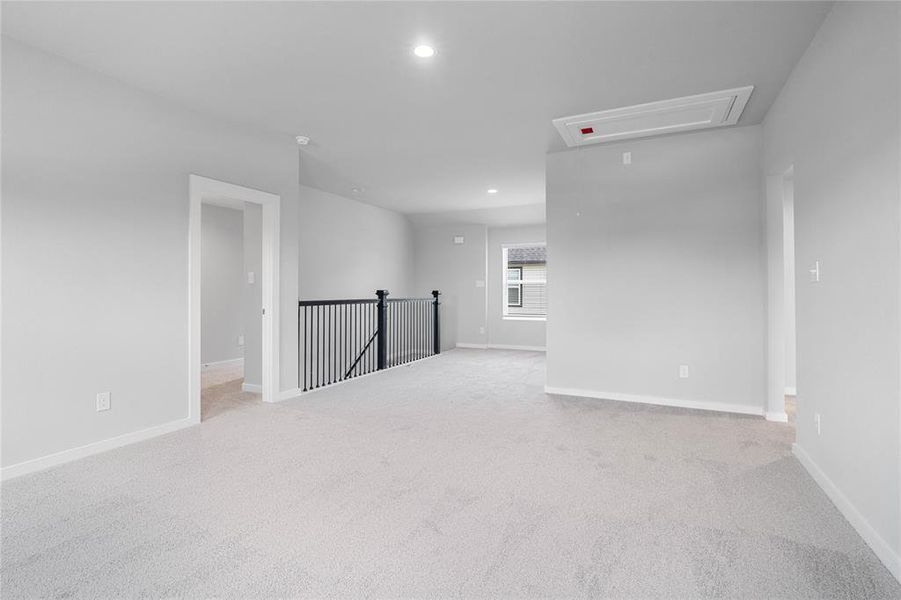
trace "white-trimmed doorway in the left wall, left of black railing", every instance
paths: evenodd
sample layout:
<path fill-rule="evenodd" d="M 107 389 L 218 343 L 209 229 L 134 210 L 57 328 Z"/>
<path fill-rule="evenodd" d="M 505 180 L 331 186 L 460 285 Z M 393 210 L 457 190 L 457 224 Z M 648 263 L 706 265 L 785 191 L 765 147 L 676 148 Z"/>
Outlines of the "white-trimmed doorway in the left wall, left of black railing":
<path fill-rule="evenodd" d="M 194 422 L 278 394 L 280 197 L 189 178 L 189 405 Z"/>

